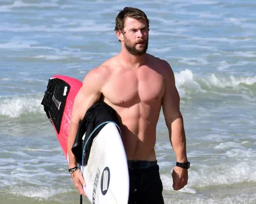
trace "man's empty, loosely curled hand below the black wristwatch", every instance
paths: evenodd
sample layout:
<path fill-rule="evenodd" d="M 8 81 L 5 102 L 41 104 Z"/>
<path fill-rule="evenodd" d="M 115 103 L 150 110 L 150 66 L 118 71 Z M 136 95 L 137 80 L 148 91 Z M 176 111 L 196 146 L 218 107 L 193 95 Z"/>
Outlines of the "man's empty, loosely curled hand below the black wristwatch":
<path fill-rule="evenodd" d="M 172 188 L 175 191 L 181 190 L 183 187 L 185 187 L 185 185 L 187 185 L 188 178 L 189 176 L 187 169 L 175 166 L 172 171 Z"/>

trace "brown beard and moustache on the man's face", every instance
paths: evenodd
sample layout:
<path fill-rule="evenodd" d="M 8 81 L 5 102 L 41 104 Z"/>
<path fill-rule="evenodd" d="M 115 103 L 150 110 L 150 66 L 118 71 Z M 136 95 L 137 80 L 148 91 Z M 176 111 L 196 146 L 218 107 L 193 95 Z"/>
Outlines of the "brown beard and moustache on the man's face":
<path fill-rule="evenodd" d="M 137 44 L 143 42 L 142 48 L 140 47 L 139 49 L 136 48 Z M 139 40 L 139 42 L 136 42 L 135 44 L 132 44 L 127 38 L 125 38 L 125 48 L 126 50 L 134 55 L 134 56 L 141 56 L 145 54 L 148 50 L 148 40 Z"/>

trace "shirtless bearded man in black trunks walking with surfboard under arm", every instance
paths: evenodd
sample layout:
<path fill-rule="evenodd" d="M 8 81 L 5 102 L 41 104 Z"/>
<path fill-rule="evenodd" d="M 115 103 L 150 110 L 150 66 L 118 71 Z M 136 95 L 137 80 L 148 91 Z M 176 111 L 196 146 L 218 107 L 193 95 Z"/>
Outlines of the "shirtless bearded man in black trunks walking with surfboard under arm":
<path fill-rule="evenodd" d="M 71 147 L 79 121 L 93 103 L 103 100 L 119 117 L 129 166 L 129 203 L 161 204 L 162 181 L 154 150 L 161 107 L 177 158 L 173 189 L 182 189 L 188 180 L 186 138 L 174 73 L 168 62 L 146 53 L 149 21 L 143 11 L 125 7 L 117 15 L 115 31 L 121 52 L 88 72 L 75 97 L 67 141 L 69 168 L 77 166 Z M 79 193 L 85 195 L 82 173 L 75 170 L 71 177 Z"/>

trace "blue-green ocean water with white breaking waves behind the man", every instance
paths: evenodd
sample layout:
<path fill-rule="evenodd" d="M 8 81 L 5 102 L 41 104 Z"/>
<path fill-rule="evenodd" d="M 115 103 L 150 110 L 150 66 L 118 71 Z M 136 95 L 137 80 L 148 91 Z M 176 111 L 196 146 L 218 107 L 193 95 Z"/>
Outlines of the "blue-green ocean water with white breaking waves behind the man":
<path fill-rule="evenodd" d="M 148 15 L 148 52 L 170 63 L 181 95 L 189 183 L 172 190 L 161 113 L 165 203 L 256 203 L 254 0 L 1 0 L 0 203 L 79 203 L 40 102 L 53 74 L 82 81 L 120 51 L 115 17 L 125 6 Z"/>

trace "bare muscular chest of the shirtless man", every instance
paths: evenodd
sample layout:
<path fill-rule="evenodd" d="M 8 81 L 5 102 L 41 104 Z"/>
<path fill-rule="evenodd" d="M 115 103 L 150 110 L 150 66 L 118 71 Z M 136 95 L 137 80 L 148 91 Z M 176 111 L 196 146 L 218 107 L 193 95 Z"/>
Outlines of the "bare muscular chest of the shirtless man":
<path fill-rule="evenodd" d="M 149 68 L 113 74 L 104 89 L 104 96 L 115 105 L 151 103 L 163 94 L 164 78 Z"/>

